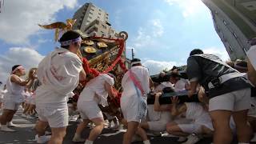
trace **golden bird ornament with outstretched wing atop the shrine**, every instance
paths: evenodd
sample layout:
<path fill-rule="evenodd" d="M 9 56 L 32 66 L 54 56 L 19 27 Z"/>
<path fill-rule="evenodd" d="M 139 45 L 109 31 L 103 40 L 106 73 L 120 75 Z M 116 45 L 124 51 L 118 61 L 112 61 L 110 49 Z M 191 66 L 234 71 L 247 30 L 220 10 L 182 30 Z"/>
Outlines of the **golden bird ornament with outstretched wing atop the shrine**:
<path fill-rule="evenodd" d="M 54 40 L 55 42 L 58 41 L 58 37 L 60 33 L 65 33 L 68 30 L 72 30 L 72 27 L 74 26 L 74 23 L 76 22 L 76 19 L 67 19 L 66 23 L 64 22 L 54 22 L 49 25 L 40 25 L 38 26 L 48 29 L 48 30 L 53 30 L 55 29 L 55 34 L 54 34 Z"/>

